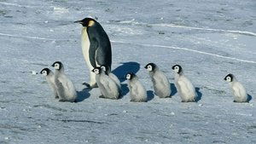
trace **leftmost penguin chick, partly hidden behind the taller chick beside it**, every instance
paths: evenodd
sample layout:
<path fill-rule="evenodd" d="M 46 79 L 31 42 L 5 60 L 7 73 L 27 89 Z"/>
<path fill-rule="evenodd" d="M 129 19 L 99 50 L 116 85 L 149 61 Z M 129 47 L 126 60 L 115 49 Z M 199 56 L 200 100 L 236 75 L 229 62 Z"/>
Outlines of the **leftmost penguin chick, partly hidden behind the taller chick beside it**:
<path fill-rule="evenodd" d="M 41 72 L 42 75 L 45 76 L 47 83 L 49 84 L 49 87 L 53 90 L 55 99 L 58 99 L 58 93 L 55 86 L 55 73 L 50 71 L 49 68 L 44 68 Z"/>

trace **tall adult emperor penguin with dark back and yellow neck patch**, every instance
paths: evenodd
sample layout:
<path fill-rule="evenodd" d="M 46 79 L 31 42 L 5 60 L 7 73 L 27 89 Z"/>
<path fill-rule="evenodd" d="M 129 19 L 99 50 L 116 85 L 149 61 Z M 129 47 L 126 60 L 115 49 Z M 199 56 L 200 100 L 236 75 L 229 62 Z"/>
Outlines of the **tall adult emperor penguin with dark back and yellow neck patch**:
<path fill-rule="evenodd" d="M 112 52 L 111 44 L 107 33 L 102 26 L 94 19 L 84 18 L 75 21 L 80 23 L 82 28 L 82 50 L 84 60 L 90 69 L 90 83 L 84 83 L 89 88 L 96 87 L 96 74 L 92 72 L 96 66 L 108 66 L 111 70 Z"/>

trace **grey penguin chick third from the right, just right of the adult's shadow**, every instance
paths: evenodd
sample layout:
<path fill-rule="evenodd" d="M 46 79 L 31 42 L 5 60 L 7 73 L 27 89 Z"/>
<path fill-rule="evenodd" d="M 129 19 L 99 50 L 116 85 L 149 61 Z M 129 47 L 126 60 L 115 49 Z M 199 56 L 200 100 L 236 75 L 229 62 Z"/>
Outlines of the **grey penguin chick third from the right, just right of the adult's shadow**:
<path fill-rule="evenodd" d="M 145 68 L 148 70 L 149 77 L 153 82 L 154 94 L 160 98 L 171 97 L 171 87 L 165 73 L 161 72 L 154 63 L 148 63 Z"/>

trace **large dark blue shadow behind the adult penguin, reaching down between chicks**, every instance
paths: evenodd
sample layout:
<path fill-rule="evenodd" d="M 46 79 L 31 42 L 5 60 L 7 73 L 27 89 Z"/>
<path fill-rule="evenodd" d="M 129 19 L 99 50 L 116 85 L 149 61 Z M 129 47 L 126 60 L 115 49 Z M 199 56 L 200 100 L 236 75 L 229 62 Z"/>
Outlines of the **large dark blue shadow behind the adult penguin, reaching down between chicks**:
<path fill-rule="evenodd" d="M 134 61 L 129 62 L 121 62 L 121 66 L 116 67 L 112 72 L 114 75 L 116 75 L 120 83 L 125 81 L 125 75 L 128 72 L 137 73 L 140 69 L 140 64 Z M 128 84 L 121 84 L 122 94 L 120 95 L 120 99 L 124 97 L 124 95 L 127 95 L 129 93 Z"/>

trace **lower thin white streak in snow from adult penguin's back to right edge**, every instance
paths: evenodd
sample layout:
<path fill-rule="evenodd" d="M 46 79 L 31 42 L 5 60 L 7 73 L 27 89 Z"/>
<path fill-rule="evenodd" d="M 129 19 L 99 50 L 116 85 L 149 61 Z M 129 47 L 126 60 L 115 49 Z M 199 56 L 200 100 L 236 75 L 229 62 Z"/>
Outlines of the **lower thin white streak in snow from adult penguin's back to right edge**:
<path fill-rule="evenodd" d="M 187 49 L 187 48 L 180 48 L 180 47 L 173 47 L 173 46 L 166 46 L 166 45 L 158 45 L 158 44 L 125 43 L 125 42 L 119 42 L 119 41 L 111 41 L 111 42 L 112 43 L 135 44 L 135 45 L 141 45 L 141 46 L 146 46 L 146 47 L 160 47 L 160 48 L 169 48 L 169 49 L 180 49 L 180 50 L 192 51 L 192 52 L 203 54 L 203 55 L 212 55 L 212 56 L 220 57 L 220 58 L 224 58 L 224 59 L 237 60 L 237 61 L 256 64 L 256 61 L 253 61 L 253 60 L 242 60 L 242 59 L 237 59 L 235 57 L 217 55 L 217 54 L 207 53 L 207 52 L 200 51 L 200 50 L 195 50 L 195 49 Z"/>

